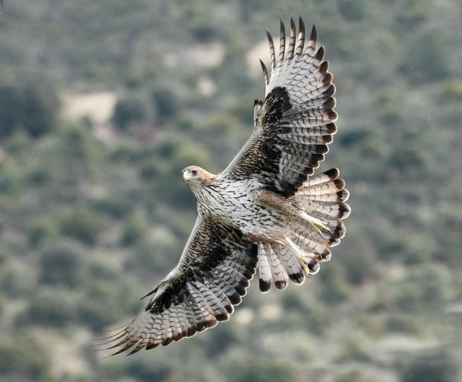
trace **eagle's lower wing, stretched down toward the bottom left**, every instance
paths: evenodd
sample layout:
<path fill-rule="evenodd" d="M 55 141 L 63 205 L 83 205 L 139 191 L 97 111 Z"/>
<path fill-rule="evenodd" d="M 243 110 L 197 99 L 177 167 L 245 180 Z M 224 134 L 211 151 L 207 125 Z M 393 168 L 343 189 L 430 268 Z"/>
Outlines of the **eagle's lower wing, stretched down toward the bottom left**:
<path fill-rule="evenodd" d="M 256 245 L 241 232 L 198 217 L 179 263 L 146 295 L 153 297 L 139 315 L 108 337 L 108 348 L 132 354 L 167 346 L 228 320 L 256 264 Z"/>

